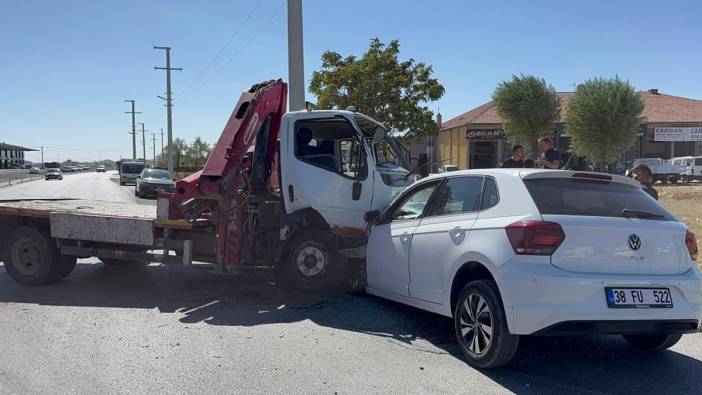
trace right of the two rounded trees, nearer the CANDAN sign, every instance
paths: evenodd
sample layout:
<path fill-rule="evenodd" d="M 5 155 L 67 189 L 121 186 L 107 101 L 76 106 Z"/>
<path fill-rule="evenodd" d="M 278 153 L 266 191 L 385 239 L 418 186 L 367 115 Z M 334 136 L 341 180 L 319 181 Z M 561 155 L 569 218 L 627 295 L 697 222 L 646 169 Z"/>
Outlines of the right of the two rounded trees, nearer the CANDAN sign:
<path fill-rule="evenodd" d="M 643 109 L 643 98 L 628 81 L 616 76 L 585 81 L 568 108 L 571 150 L 605 169 L 636 141 Z"/>

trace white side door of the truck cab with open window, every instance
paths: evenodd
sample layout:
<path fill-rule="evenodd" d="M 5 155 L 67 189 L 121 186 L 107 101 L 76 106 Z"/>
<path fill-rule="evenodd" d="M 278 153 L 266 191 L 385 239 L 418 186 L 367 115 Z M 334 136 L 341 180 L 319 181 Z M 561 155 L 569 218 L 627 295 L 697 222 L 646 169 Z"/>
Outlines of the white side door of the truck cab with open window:
<path fill-rule="evenodd" d="M 344 116 L 292 115 L 281 138 L 286 211 L 312 208 L 332 226 L 363 229 L 373 196 L 365 142 Z"/>

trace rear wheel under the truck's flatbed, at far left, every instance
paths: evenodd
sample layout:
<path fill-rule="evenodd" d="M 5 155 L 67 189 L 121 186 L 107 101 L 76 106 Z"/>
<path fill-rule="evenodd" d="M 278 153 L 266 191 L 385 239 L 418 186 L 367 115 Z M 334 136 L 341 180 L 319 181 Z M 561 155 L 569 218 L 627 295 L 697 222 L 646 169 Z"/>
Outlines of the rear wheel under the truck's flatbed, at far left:
<path fill-rule="evenodd" d="M 29 226 L 10 232 L 3 251 L 7 274 L 22 285 L 61 280 L 76 266 L 76 258 L 61 255 L 48 234 Z"/>

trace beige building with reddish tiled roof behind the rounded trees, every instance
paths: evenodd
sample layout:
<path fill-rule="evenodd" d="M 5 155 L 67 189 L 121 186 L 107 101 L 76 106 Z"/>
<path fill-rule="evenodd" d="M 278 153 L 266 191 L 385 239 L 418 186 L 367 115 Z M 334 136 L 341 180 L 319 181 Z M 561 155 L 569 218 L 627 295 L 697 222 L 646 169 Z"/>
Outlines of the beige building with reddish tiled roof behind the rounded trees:
<path fill-rule="evenodd" d="M 563 133 L 568 104 L 573 92 L 559 92 L 561 116 L 551 136 L 561 152 L 568 150 L 568 136 Z M 641 92 L 645 108 L 643 123 L 635 144 L 622 154 L 625 165 L 639 157 L 670 159 L 676 156 L 702 155 L 702 141 L 663 140 L 659 128 L 702 127 L 702 100 L 659 93 L 657 89 Z M 437 120 L 440 123 L 440 120 Z M 688 133 L 689 136 L 689 133 Z M 440 123 L 436 138 L 435 161 L 455 164 L 461 169 L 498 167 L 511 155 L 502 119 L 490 101 L 464 114 Z"/>

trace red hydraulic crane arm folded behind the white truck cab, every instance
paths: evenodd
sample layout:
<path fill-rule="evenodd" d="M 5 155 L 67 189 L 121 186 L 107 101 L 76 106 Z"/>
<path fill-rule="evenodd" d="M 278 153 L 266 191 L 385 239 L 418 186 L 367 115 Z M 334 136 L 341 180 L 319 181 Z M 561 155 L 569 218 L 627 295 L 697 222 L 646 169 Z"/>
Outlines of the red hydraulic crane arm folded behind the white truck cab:
<path fill-rule="evenodd" d="M 204 168 L 178 181 L 172 200 L 231 197 L 243 186 L 242 162 L 262 127 L 269 128 L 269 141 L 258 143 L 275 148 L 286 98 L 287 85 L 281 80 L 256 84 L 243 92 Z"/>

